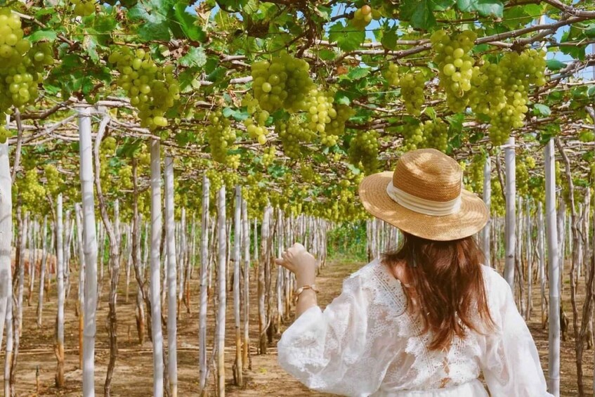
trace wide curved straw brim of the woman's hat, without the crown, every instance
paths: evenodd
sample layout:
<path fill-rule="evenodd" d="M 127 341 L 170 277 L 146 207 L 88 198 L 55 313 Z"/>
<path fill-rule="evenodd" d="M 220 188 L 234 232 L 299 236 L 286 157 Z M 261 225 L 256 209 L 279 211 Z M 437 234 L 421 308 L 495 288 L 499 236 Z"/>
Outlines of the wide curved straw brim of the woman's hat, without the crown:
<path fill-rule="evenodd" d="M 392 179 L 391 171 L 366 176 L 360 183 L 360 200 L 370 214 L 406 233 L 428 240 L 459 240 L 474 235 L 488 222 L 488 207 L 469 190 L 462 190 L 461 208 L 457 213 L 431 216 L 393 201 L 386 193 L 386 186 Z"/>

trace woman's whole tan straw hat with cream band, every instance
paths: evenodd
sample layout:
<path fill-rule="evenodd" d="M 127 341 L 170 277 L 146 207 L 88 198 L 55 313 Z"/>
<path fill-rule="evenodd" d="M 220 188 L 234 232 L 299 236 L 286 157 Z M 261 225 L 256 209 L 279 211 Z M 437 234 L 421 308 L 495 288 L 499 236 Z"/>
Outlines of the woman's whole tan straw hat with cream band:
<path fill-rule="evenodd" d="M 370 214 L 406 233 L 447 241 L 474 235 L 488 222 L 483 200 L 462 188 L 463 171 L 435 149 L 413 150 L 394 172 L 364 178 L 360 200 Z"/>

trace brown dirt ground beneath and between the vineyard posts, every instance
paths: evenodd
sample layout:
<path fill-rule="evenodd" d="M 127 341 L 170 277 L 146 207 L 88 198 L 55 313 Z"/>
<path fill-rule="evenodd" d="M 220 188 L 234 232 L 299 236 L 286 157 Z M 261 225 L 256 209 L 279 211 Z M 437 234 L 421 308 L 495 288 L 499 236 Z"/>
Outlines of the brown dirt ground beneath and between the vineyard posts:
<path fill-rule="evenodd" d="M 317 285 L 321 289 L 319 302 L 327 305 L 341 290 L 341 282 L 347 275 L 357 270 L 362 263 L 337 261 L 327 264 L 323 269 Z M 107 272 L 106 272 L 107 274 Z M 198 389 L 198 285 L 197 272 L 192 280 L 191 313 L 185 308 L 178 321 L 178 393 L 179 396 L 197 396 Z M 72 290 L 65 307 L 65 379 L 63 389 L 55 389 L 55 353 L 53 350 L 54 323 L 56 314 L 56 290 L 51 287 L 51 301 L 44 302 L 44 325 L 41 329 L 36 325 L 37 294 L 34 294 L 32 305 L 26 306 L 23 318 L 23 330 L 20 341 L 20 353 L 16 372 L 17 396 L 81 396 L 81 369 L 78 356 L 78 319 L 74 313 L 76 305 L 77 276 L 72 275 Z M 121 289 L 118 306 L 119 356 L 112 380 L 112 396 L 150 396 L 152 394 L 152 351 L 150 341 L 141 346 L 136 337 L 136 320 L 134 316 L 136 283 L 131 277 L 128 303 L 124 299 L 125 277 L 121 276 Z M 256 295 L 254 272 L 251 272 L 252 298 Z M 273 277 L 273 280 L 275 278 Z M 36 280 L 37 281 L 37 280 Z M 54 282 L 54 280 L 52 280 Z M 107 280 L 103 287 L 103 297 L 98 311 L 98 327 L 96 337 L 96 393 L 103 395 L 103 382 L 109 355 L 107 339 Z M 542 366 L 547 373 L 547 328 L 541 325 L 539 288 L 535 286 L 533 294 L 534 311 L 529 322 L 530 330 L 540 351 Z M 565 285 L 565 311 L 570 320 L 568 340 L 561 345 L 561 396 L 577 396 L 576 365 L 574 358 L 574 339 L 572 337 L 572 313 L 570 311 L 570 287 Z M 268 354 L 256 354 L 256 337 L 258 323 L 256 318 L 256 301 L 251 299 L 250 335 L 254 346 L 251 346 L 251 370 L 244 375 L 245 386 L 238 389 L 233 386 L 232 364 L 235 355 L 233 336 L 233 294 L 228 294 L 228 317 L 225 356 L 228 364 L 227 394 L 228 396 L 329 396 L 328 394 L 309 391 L 289 377 L 278 365 L 276 341 L 270 345 Z M 567 301 L 568 300 L 568 301 Z M 214 313 L 212 302 L 209 306 L 209 336 L 214 334 Z M 287 324 L 289 325 L 289 324 Z M 285 325 L 283 328 L 287 327 Z M 164 330 L 165 332 L 165 330 Z M 166 337 L 164 337 L 166 339 Z M 278 339 L 278 336 L 277 336 Z M 212 346 L 209 340 L 208 346 Z M 0 362 L 4 363 L 3 353 Z M 209 351 L 210 356 L 210 351 Z M 594 351 L 585 351 L 584 380 L 587 393 L 592 391 Z M 39 369 L 39 378 L 36 371 Z M 36 379 L 39 379 L 37 393 Z M 214 381 L 211 372 L 209 381 Z M 211 393 L 214 395 L 214 393 Z"/>

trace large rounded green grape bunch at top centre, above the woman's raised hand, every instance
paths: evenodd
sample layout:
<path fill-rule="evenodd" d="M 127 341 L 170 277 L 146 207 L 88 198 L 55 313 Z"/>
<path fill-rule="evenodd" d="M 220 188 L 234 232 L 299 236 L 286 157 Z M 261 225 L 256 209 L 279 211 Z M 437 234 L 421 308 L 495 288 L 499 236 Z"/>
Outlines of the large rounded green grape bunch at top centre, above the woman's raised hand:
<path fill-rule="evenodd" d="M 305 60 L 296 59 L 285 51 L 270 62 L 253 63 L 252 89 L 261 109 L 270 113 L 281 108 L 289 112 L 302 109 L 314 85 L 309 70 L 310 65 Z"/>

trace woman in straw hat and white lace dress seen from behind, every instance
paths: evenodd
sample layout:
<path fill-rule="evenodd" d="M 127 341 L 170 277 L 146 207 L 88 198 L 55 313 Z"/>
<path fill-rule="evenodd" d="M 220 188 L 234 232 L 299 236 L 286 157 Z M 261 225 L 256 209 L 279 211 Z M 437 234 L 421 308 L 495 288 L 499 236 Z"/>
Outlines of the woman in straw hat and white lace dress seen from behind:
<path fill-rule="evenodd" d="M 325 311 L 315 261 L 294 245 L 277 264 L 296 275 L 295 323 L 278 344 L 282 367 L 344 396 L 551 396 L 511 288 L 473 240 L 488 209 L 462 189 L 459 164 L 408 152 L 395 171 L 367 176 L 360 199 L 403 231 L 400 249 L 344 281 Z"/>

